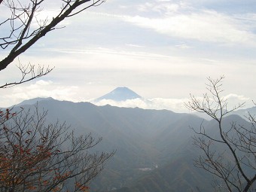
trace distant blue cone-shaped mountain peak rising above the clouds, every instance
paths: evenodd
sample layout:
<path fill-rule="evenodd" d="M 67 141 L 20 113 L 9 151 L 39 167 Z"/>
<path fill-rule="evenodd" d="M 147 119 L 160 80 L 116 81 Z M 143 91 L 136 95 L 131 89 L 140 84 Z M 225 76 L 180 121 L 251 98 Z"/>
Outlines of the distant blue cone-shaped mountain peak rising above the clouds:
<path fill-rule="evenodd" d="M 98 99 L 96 99 L 96 101 L 100 101 L 102 99 L 110 99 L 116 102 L 121 102 L 127 99 L 137 99 L 137 98 L 142 98 L 142 97 L 127 87 L 117 87 L 114 90 L 112 90 L 110 93 L 107 93 L 104 96 L 99 97 Z"/>

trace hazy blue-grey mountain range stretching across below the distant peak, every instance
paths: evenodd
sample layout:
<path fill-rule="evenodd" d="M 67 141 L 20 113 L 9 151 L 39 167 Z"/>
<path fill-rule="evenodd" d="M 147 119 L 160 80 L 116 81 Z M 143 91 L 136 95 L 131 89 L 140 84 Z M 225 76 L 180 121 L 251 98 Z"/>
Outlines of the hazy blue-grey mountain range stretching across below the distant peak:
<path fill-rule="evenodd" d="M 193 159 L 199 154 L 191 145 L 194 133 L 189 126 L 200 126 L 203 121 L 200 117 L 54 99 L 38 101 L 38 106 L 48 111 L 49 122 L 65 121 L 78 136 L 87 133 L 102 136 L 94 151 L 117 150 L 105 170 L 90 184 L 92 191 L 184 192 L 197 191 L 197 187 L 212 191 L 209 175 L 193 166 Z M 248 123 L 233 115 L 224 125 L 230 126 L 232 120 Z M 215 122 L 204 120 L 204 123 L 215 134 Z"/>

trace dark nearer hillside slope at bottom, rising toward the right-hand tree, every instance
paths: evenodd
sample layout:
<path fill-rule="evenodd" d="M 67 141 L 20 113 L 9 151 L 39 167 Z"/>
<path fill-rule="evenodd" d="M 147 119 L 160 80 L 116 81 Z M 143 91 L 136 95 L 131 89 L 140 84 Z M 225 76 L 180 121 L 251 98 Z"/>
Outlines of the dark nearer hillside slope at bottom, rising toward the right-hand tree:
<path fill-rule="evenodd" d="M 192 161 L 194 158 L 193 154 L 176 157 L 165 166 L 142 175 L 133 184 L 128 184 L 114 192 L 215 191 L 209 182 L 212 177 L 206 175 L 202 169 L 194 167 Z"/>

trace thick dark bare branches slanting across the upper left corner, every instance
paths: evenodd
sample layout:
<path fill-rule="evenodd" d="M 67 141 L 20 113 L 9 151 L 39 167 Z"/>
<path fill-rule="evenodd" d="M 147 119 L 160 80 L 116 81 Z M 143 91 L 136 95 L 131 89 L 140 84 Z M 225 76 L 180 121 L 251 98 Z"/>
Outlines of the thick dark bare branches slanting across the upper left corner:
<path fill-rule="evenodd" d="M 17 56 L 24 53 L 40 38 L 44 37 L 48 32 L 56 29 L 56 26 L 67 17 L 75 16 L 82 11 L 87 10 L 92 6 L 98 6 L 105 0 L 62 0 L 62 8 L 50 23 L 47 23 L 47 18 L 39 26 L 38 29 L 32 29 L 32 20 L 36 20 L 36 14 L 41 11 L 41 4 L 45 0 L 31 0 L 29 5 L 23 5 L 19 0 L 7 1 L 4 5 L 11 10 L 11 17 L 0 24 L 0 27 L 6 23 L 10 23 L 11 33 L 0 38 L 0 47 L 5 49 L 9 46 L 10 53 L 5 59 L 0 61 L 0 71 L 5 69 Z M 15 3 L 16 2 L 16 3 Z M 90 5 L 87 5 L 91 2 Z"/>

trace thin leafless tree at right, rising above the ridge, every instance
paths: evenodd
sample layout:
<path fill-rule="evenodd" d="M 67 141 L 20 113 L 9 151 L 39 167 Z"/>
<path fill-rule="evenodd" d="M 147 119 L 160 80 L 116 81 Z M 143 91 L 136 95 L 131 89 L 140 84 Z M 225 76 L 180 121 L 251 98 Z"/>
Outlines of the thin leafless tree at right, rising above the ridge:
<path fill-rule="evenodd" d="M 195 166 L 224 181 L 224 186 L 221 185 L 224 191 L 252 191 L 256 180 L 256 119 L 248 114 L 251 127 L 236 122 L 231 122 L 230 127 L 224 126 L 224 117 L 244 103 L 230 110 L 227 108 L 227 99 L 221 97 L 223 79 L 224 76 L 208 78 L 206 88 L 209 93 L 203 95 L 203 100 L 190 95 L 190 102 L 185 104 L 189 109 L 208 114 L 217 122 L 218 135 L 215 136 L 206 131 L 203 123 L 200 130 L 192 128 L 196 134 L 193 137 L 194 145 L 204 154 L 194 160 Z M 220 190 L 220 187 L 215 188 Z"/>

